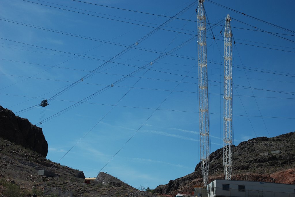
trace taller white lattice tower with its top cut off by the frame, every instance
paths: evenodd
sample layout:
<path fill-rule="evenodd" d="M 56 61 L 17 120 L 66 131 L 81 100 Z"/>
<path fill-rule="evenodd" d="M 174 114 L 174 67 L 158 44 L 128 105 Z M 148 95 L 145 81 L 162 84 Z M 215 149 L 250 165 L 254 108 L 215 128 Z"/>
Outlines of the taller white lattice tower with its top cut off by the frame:
<path fill-rule="evenodd" d="M 199 110 L 200 110 L 200 151 L 204 186 L 208 184 L 209 173 L 209 106 L 207 76 L 206 17 L 204 0 L 199 0 L 198 23 L 198 68 L 199 68 Z"/>

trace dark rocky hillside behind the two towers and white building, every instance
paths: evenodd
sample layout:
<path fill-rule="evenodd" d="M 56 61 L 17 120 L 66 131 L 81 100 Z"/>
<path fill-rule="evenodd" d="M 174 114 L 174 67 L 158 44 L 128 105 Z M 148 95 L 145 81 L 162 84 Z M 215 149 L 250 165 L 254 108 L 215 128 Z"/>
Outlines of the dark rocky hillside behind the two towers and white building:
<path fill-rule="evenodd" d="M 275 150 L 280 152 L 271 152 Z M 295 132 L 241 142 L 233 147 L 233 163 L 233 180 L 295 184 Z M 224 179 L 222 148 L 210 154 L 209 166 L 209 182 Z M 160 185 L 155 191 L 172 195 L 191 193 L 194 186 L 203 185 L 202 181 L 199 163 L 193 173 Z"/>

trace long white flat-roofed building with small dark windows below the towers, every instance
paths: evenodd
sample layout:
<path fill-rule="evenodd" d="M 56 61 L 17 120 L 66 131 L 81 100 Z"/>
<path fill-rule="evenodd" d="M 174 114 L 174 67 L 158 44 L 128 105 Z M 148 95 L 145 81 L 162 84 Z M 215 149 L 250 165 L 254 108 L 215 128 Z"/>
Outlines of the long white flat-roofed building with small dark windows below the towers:
<path fill-rule="evenodd" d="M 295 185 L 258 181 L 214 180 L 204 191 L 204 188 L 195 188 L 194 196 L 295 197 Z"/>

